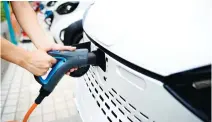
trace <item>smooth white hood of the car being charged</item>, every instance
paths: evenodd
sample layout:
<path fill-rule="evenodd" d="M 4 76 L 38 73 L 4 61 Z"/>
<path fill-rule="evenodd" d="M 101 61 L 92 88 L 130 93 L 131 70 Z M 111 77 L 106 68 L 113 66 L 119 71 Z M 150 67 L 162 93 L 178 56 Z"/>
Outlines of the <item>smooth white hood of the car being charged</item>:
<path fill-rule="evenodd" d="M 167 76 L 211 63 L 209 0 L 96 1 L 84 30 L 112 53 Z"/>

